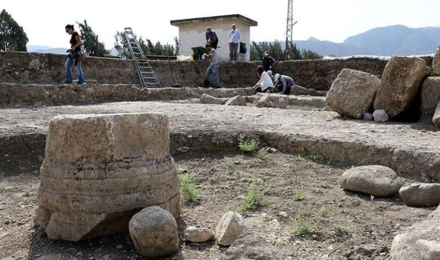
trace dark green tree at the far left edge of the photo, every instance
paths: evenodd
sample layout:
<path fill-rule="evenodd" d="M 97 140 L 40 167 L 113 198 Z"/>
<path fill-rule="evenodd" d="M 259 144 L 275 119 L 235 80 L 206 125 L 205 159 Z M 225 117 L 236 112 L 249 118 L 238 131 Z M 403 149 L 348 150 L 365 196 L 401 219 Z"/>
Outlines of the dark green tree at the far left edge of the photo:
<path fill-rule="evenodd" d="M 0 13 L 0 51 L 27 51 L 28 41 L 23 27 L 3 9 Z"/>

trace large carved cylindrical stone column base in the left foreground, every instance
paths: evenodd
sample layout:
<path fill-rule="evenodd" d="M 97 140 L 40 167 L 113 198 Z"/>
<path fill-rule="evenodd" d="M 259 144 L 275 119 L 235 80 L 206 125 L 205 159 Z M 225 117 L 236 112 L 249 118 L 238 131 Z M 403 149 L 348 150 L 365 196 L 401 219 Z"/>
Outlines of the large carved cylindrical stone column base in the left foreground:
<path fill-rule="evenodd" d="M 163 114 L 57 116 L 49 125 L 34 223 L 78 241 L 128 229 L 148 206 L 180 216 Z"/>

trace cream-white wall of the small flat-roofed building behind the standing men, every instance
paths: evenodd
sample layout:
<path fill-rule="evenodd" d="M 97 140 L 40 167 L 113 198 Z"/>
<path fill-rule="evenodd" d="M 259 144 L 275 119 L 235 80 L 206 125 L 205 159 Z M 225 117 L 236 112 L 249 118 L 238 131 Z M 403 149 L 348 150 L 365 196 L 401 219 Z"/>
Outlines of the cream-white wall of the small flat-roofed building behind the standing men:
<path fill-rule="evenodd" d="M 205 47 L 205 32 L 206 27 L 216 32 L 219 38 L 219 44 L 217 47 L 217 54 L 220 60 L 229 60 L 229 39 L 228 33 L 232 29 L 231 25 L 237 25 L 237 29 L 240 31 L 240 42 L 246 43 L 247 53 L 239 54 L 239 61 L 250 60 L 250 27 L 241 20 L 228 19 L 212 22 L 193 22 L 187 24 L 179 24 L 179 54 L 190 56 L 193 54 L 191 47 L 203 46 Z M 220 48 L 219 48 L 220 47 Z M 238 49 L 238 52 L 240 50 Z"/>

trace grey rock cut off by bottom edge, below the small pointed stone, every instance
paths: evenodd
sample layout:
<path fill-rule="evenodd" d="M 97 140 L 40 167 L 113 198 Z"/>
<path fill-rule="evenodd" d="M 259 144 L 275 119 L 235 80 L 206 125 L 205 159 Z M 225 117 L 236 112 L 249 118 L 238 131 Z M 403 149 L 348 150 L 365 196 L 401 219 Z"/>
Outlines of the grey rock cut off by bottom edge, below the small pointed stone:
<path fill-rule="evenodd" d="M 284 256 L 260 234 L 247 231 L 240 235 L 225 253 L 224 260 L 259 259 L 282 260 Z"/>

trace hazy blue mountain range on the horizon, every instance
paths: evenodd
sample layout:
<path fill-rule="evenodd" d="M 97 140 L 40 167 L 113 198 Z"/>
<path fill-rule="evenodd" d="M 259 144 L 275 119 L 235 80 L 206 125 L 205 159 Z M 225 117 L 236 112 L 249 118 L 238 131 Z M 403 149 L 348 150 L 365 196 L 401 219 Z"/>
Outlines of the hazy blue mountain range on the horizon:
<path fill-rule="evenodd" d="M 351 55 L 422 55 L 435 53 L 440 45 L 440 27 L 409 28 L 392 25 L 371 29 L 348 37 L 343 43 L 318 40 L 294 41 L 299 49 L 315 51 L 323 56 L 337 57 Z M 286 42 L 281 42 L 282 48 Z M 65 54 L 65 48 L 47 46 L 28 46 L 29 52 Z M 113 49 L 111 49 L 114 52 Z"/>

